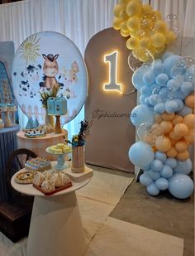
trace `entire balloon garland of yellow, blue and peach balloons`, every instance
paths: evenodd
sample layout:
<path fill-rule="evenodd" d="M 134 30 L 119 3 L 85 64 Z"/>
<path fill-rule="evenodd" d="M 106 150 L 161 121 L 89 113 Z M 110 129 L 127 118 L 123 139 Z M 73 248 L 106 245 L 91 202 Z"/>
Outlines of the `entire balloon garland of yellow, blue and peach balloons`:
<path fill-rule="evenodd" d="M 168 189 L 179 199 L 188 198 L 193 193 L 188 149 L 194 142 L 195 61 L 165 52 L 145 65 L 149 56 L 159 56 L 174 41 L 176 33 L 158 11 L 139 0 L 119 0 L 114 15 L 113 27 L 121 36 L 131 36 L 126 46 L 144 62 L 132 68 L 128 60 L 135 71 L 132 84 L 140 92 L 140 104 L 131 111 L 140 141 L 130 147 L 129 158 L 144 170 L 140 183 L 151 196 Z"/>

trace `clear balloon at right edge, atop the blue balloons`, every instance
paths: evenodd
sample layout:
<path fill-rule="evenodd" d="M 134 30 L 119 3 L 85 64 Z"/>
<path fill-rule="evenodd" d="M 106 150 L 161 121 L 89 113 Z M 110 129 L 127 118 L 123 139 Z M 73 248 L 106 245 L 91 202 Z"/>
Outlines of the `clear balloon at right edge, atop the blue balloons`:
<path fill-rule="evenodd" d="M 177 75 L 185 75 L 188 68 L 195 64 L 192 57 L 183 57 L 178 60 L 171 69 L 171 77 L 175 78 Z"/>

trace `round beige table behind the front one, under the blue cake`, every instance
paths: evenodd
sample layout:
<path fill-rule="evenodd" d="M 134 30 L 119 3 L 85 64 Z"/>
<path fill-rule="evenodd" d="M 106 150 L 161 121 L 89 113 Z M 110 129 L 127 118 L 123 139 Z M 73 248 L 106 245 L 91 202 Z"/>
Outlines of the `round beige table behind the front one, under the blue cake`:
<path fill-rule="evenodd" d="M 56 160 L 56 156 L 45 152 L 47 147 L 57 143 L 63 143 L 64 139 L 68 139 L 68 132 L 63 130 L 62 133 L 47 133 L 45 137 L 27 138 L 24 132 L 17 133 L 18 148 L 28 148 L 35 152 L 38 156 Z"/>

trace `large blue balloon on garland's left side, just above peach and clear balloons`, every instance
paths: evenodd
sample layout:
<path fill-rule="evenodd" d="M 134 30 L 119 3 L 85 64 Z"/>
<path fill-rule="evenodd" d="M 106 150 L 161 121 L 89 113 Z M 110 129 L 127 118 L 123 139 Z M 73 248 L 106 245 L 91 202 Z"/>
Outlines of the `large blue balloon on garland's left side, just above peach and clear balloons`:
<path fill-rule="evenodd" d="M 137 105 L 131 111 L 131 122 L 135 126 L 140 126 L 141 123 L 145 123 L 146 126 L 150 126 L 155 121 L 154 111 L 144 104 Z"/>

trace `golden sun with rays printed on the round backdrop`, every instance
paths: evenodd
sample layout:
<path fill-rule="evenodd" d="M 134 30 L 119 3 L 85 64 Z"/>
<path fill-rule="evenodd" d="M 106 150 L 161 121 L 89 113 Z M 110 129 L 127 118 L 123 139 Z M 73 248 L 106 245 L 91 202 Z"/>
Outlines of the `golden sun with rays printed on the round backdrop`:
<path fill-rule="evenodd" d="M 40 41 L 40 38 L 36 38 L 36 34 L 29 36 L 26 38 L 25 41 L 22 42 L 20 46 L 20 53 L 21 53 L 21 58 L 26 60 L 26 64 L 31 61 L 31 62 L 36 62 L 37 56 L 40 56 L 38 51 L 40 50 L 40 45 L 38 42 Z"/>

